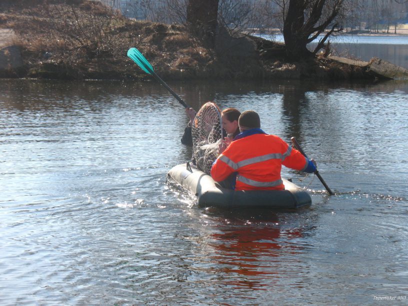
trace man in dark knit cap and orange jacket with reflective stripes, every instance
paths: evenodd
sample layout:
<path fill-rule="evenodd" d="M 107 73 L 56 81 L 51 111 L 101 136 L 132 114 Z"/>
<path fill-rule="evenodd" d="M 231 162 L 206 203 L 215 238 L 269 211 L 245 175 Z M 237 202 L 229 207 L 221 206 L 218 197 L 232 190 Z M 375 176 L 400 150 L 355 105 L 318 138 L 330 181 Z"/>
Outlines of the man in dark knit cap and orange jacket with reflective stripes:
<path fill-rule="evenodd" d="M 303 156 L 280 137 L 260 129 L 259 115 L 253 110 L 241 113 L 239 133 L 220 152 L 211 168 L 215 181 L 236 173 L 236 190 L 284 189 L 280 177 L 282 164 L 307 173 L 316 171 L 314 161 Z"/>

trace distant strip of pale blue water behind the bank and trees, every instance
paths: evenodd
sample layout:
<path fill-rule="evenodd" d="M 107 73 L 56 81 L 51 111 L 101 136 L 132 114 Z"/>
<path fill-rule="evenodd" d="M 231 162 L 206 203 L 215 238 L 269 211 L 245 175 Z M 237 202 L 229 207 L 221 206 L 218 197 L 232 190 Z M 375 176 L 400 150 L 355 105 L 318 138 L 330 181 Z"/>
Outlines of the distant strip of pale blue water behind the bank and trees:
<path fill-rule="evenodd" d="M 264 38 L 283 42 L 283 35 L 263 35 Z M 369 61 L 372 57 L 392 62 L 408 69 L 408 35 L 339 35 L 330 38 L 332 55 Z M 310 43 L 310 49 L 316 43 Z"/>

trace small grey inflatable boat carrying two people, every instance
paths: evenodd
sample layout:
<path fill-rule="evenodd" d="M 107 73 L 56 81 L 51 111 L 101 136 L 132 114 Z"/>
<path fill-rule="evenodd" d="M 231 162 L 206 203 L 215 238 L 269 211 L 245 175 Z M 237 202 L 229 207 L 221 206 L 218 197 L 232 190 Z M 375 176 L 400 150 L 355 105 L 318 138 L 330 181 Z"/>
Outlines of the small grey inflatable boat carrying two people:
<path fill-rule="evenodd" d="M 282 179 L 284 190 L 232 190 L 221 187 L 210 175 L 189 163 L 172 167 L 167 179 L 195 194 L 198 207 L 298 208 L 311 204 L 310 195 L 286 179 Z"/>

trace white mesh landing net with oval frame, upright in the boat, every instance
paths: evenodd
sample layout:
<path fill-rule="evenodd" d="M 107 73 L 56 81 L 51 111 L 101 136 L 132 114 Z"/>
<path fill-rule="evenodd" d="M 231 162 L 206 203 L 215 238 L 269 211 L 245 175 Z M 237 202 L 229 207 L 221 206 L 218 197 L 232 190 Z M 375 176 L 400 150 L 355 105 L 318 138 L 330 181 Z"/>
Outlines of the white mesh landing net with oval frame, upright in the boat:
<path fill-rule="evenodd" d="M 218 156 L 218 144 L 222 139 L 222 121 L 218 107 L 211 102 L 201 106 L 191 128 L 192 156 L 197 168 L 209 174 Z"/>

